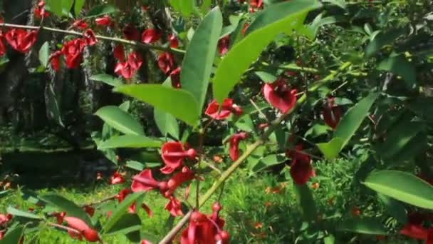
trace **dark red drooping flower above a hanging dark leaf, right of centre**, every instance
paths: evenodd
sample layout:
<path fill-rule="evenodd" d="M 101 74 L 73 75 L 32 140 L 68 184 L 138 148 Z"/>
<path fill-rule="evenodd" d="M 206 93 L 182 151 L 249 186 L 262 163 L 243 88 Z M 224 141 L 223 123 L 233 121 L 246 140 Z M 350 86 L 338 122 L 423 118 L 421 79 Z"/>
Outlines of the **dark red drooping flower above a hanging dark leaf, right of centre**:
<path fill-rule="evenodd" d="M 315 176 L 313 166 L 311 166 L 311 160 L 308 155 L 300 153 L 302 146 L 296 146 L 296 150 L 286 151 L 286 156 L 292 158 L 290 175 L 293 181 L 298 185 L 303 185 L 308 182 L 311 176 Z"/>

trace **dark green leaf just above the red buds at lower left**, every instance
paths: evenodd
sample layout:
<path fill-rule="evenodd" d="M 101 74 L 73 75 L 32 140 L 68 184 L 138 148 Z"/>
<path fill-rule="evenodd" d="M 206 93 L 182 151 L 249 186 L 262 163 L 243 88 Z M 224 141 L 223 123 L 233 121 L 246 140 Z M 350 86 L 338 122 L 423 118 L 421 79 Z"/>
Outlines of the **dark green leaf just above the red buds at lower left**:
<path fill-rule="evenodd" d="M 68 200 L 66 198 L 63 198 L 63 196 L 61 195 L 53 193 L 39 196 L 39 198 L 44 202 L 49 203 L 62 211 L 65 211 L 68 216 L 79 218 L 88 225 L 92 225 L 92 220 L 90 220 L 89 216 L 87 215 L 87 213 L 85 213 L 83 208 L 79 207 L 71 200 Z"/>

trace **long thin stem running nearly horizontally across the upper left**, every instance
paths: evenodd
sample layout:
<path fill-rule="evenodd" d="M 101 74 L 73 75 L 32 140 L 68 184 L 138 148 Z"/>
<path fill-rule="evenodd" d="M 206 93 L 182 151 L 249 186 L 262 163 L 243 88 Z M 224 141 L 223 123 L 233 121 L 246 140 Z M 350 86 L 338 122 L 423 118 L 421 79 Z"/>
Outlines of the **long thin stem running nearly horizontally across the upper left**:
<path fill-rule="evenodd" d="M 67 35 L 83 36 L 83 33 L 80 33 L 77 31 L 66 31 L 66 30 L 56 29 L 56 28 L 51 28 L 51 27 L 46 27 L 46 26 L 24 26 L 24 25 L 20 25 L 20 24 L 8 24 L 8 23 L 0 23 L 0 26 L 19 28 L 19 29 L 29 29 L 29 30 L 46 30 L 46 31 L 50 31 L 50 32 L 62 33 L 62 34 L 67 34 Z M 126 39 L 120 39 L 120 38 L 110 37 L 110 36 L 95 35 L 95 37 L 96 37 L 96 39 L 100 39 L 100 40 L 114 41 L 114 42 L 125 44 L 125 45 L 137 46 L 140 49 L 155 49 L 155 50 L 159 50 L 159 51 L 172 51 L 172 52 L 177 53 L 177 54 L 185 54 L 185 51 L 181 50 L 181 49 L 172 49 L 170 47 L 165 47 L 165 46 L 143 44 L 143 43 L 138 42 L 138 41 L 129 41 Z"/>

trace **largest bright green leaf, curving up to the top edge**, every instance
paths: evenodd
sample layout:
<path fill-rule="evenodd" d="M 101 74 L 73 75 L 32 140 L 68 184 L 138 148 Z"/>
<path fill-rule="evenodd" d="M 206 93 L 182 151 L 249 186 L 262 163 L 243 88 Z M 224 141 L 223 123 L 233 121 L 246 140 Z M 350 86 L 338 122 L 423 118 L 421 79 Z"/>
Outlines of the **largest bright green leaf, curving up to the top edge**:
<path fill-rule="evenodd" d="M 291 0 L 268 6 L 247 29 L 248 35 L 239 41 L 222 59 L 216 69 L 213 88 L 214 98 L 224 101 L 242 73 L 256 61 L 263 49 L 281 32 L 291 33 L 303 24 L 308 11 L 320 3 L 315 0 Z"/>

